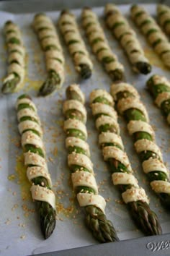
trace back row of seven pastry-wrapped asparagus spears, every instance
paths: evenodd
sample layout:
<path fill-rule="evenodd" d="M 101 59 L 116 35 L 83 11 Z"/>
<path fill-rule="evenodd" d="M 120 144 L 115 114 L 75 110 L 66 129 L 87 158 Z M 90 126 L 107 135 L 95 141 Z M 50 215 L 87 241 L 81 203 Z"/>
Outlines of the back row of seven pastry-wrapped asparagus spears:
<path fill-rule="evenodd" d="M 104 15 L 107 26 L 112 30 L 115 38 L 119 40 L 120 45 L 132 64 L 133 70 L 141 74 L 151 72 L 151 64 L 146 59 L 135 31 L 130 27 L 119 9 L 113 4 L 107 4 Z M 156 25 L 155 20 L 143 7 L 139 6 L 131 8 L 131 17 L 144 35 L 146 35 L 149 43 L 151 43 L 151 46 L 161 57 L 166 67 L 169 67 L 170 44 L 166 35 Z M 158 17 L 160 17 L 161 26 L 165 30 L 169 30 L 169 10 L 165 10 L 163 5 L 158 6 Z M 81 14 L 81 23 L 86 31 L 86 37 L 89 40 L 92 51 L 102 63 L 112 81 L 124 80 L 124 67 L 118 61 L 117 55 L 109 47 L 97 15 L 91 9 L 84 8 Z M 79 72 L 81 78 L 89 78 L 93 70 L 93 64 L 86 50 L 84 40 L 81 38 L 76 17 L 71 12 L 63 11 L 59 17 L 58 25 L 73 58 L 76 71 Z M 40 87 L 39 95 L 49 95 L 58 88 L 61 88 L 65 79 L 63 49 L 52 20 L 45 14 L 36 14 L 32 26 L 40 40 L 42 51 L 44 51 L 47 70 L 47 79 Z M 4 79 L 2 92 L 13 93 L 19 90 L 24 80 L 25 50 L 17 25 L 13 22 L 6 22 L 4 34 L 9 51 L 9 69 L 8 75 Z"/>

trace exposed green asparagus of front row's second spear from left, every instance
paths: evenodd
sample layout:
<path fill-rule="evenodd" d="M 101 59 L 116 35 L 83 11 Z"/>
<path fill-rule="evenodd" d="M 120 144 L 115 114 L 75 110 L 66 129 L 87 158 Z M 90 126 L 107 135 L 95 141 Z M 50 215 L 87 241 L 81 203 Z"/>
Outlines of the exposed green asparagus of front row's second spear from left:
<path fill-rule="evenodd" d="M 75 85 L 69 86 L 66 90 L 66 96 L 68 100 L 75 100 L 78 103 L 81 103 L 83 106 L 84 95 L 82 95 L 81 90 L 77 88 L 77 85 L 76 88 Z M 66 121 L 71 119 L 79 120 L 79 115 L 77 115 L 77 111 L 78 110 L 76 108 L 71 108 L 69 111 L 66 111 Z M 69 139 L 76 137 L 82 140 L 83 142 L 86 141 L 86 135 L 83 131 L 81 131 L 80 127 L 77 127 L 76 129 L 66 129 L 66 135 Z M 70 147 L 68 147 L 69 155 L 75 153 L 86 155 L 89 157 L 89 150 L 87 150 L 87 148 L 85 149 L 77 145 L 71 145 Z M 84 171 L 84 174 L 91 173 L 91 170 L 89 170 L 89 168 L 84 167 L 83 163 L 82 166 L 72 164 L 71 166 L 69 166 L 69 168 L 72 174 L 76 173 L 77 171 Z M 94 188 L 91 187 L 91 184 L 86 186 L 78 186 L 75 188 L 75 192 L 77 195 L 81 195 L 81 193 L 97 195 L 97 192 L 94 190 Z M 84 206 L 84 210 L 86 213 L 86 225 L 91 230 L 93 236 L 99 242 L 115 242 L 119 240 L 115 228 L 112 226 L 111 221 L 107 220 L 104 211 L 100 209 L 98 205 L 94 205 L 91 203 L 91 205 Z"/>

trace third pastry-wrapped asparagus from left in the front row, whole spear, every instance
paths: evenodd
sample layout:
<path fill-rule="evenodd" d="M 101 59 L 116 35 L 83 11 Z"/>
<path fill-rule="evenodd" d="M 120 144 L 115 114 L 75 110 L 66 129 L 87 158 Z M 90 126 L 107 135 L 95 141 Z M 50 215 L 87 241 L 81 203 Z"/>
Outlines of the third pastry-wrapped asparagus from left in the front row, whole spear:
<path fill-rule="evenodd" d="M 104 161 L 112 170 L 112 182 L 122 192 L 122 200 L 139 228 L 146 235 L 161 234 L 156 213 L 149 208 L 145 190 L 139 187 L 137 179 L 125 153 L 117 113 L 113 108 L 112 96 L 106 90 L 93 90 L 90 94 L 91 110 L 99 130 L 99 145 Z"/>

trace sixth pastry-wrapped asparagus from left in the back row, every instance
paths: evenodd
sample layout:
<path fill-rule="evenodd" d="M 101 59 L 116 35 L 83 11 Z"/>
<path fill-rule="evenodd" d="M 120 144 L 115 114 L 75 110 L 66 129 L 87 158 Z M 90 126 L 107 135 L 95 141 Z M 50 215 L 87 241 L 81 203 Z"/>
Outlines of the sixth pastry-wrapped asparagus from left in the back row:
<path fill-rule="evenodd" d="M 143 7 L 134 5 L 130 12 L 133 21 L 146 36 L 148 43 L 161 58 L 164 65 L 170 68 L 170 43 L 166 35 Z"/>

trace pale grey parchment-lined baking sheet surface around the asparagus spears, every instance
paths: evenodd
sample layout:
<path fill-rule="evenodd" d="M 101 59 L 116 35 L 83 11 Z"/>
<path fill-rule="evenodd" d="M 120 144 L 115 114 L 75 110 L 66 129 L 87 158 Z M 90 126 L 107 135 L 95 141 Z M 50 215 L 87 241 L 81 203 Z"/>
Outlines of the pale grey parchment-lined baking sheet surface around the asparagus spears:
<path fill-rule="evenodd" d="M 128 5 L 120 6 L 124 14 L 129 12 Z M 155 13 L 155 5 L 147 5 L 146 8 L 151 14 Z M 94 11 L 102 16 L 103 8 L 94 8 Z M 79 17 L 80 10 L 73 10 L 73 13 Z M 47 14 L 56 23 L 59 12 L 47 12 Z M 105 88 L 109 91 L 111 80 L 102 70 L 102 67 L 91 54 L 94 62 L 94 72 L 89 80 L 81 82 L 78 74 L 75 72 L 72 60 L 68 54 L 66 46 L 63 43 L 64 54 L 66 57 L 66 81 L 63 88 L 48 98 L 36 98 L 37 90 L 43 80 L 45 80 L 45 64 L 43 53 L 37 41 L 35 33 L 32 31 L 31 22 L 34 14 L 10 14 L 0 12 L 0 28 L 6 20 L 13 20 L 22 29 L 24 44 L 27 49 L 27 74 L 25 86 L 22 92 L 32 95 L 32 99 L 37 105 L 38 114 L 44 128 L 44 142 L 46 155 L 48 159 L 48 168 L 53 181 L 53 190 L 57 202 L 57 222 L 53 235 L 48 240 L 42 238 L 40 232 L 40 223 L 37 213 L 35 213 L 35 204 L 30 197 L 30 184 L 25 176 L 23 166 L 22 148 L 19 146 L 20 136 L 17 131 L 17 114 L 14 109 L 15 101 L 20 93 L 14 95 L 0 95 L 1 117 L 0 117 L 0 196 L 1 196 L 1 224 L 0 224 L 0 254 L 1 255 L 36 255 L 38 253 L 59 251 L 62 249 L 71 249 L 74 247 L 84 247 L 98 244 L 91 236 L 91 232 L 86 229 L 84 224 L 84 212 L 79 208 L 72 191 L 70 172 L 67 167 L 67 152 L 64 146 L 65 134 L 62 129 L 62 101 L 65 98 L 65 90 L 71 83 L 81 83 L 81 89 L 86 94 L 86 107 L 88 111 L 87 129 L 89 132 L 89 145 L 91 149 L 91 161 L 94 163 L 94 172 L 97 174 L 97 184 L 99 184 L 99 194 L 107 200 L 106 215 L 117 229 L 120 240 L 135 239 L 143 237 L 143 233 L 136 229 L 135 224 L 130 218 L 128 208 L 121 204 L 120 192 L 112 186 L 111 175 L 107 170 L 106 164 L 102 160 L 101 150 L 97 145 L 97 130 L 94 127 L 94 121 L 89 109 L 89 93 L 94 88 Z M 103 22 L 102 25 L 104 26 Z M 135 28 L 133 26 L 133 28 Z M 130 69 L 128 59 L 122 52 L 118 43 L 112 38 L 107 29 L 104 30 L 109 40 L 109 45 L 118 55 L 122 64 L 125 65 L 125 75 L 128 82 L 133 83 L 141 95 L 141 99 L 146 103 L 151 124 L 156 131 L 158 145 L 164 154 L 164 161 L 169 168 L 169 126 L 166 124 L 164 117 L 158 108 L 153 106 L 153 101 L 145 84 L 148 76 L 134 74 Z M 81 31 L 84 35 L 84 32 Z M 1 31 L 2 33 L 2 31 Z M 169 71 L 162 65 L 155 54 L 147 46 L 143 36 L 138 33 L 146 54 L 151 59 L 153 74 L 164 74 L 170 79 Z M 84 38 L 86 41 L 86 38 Z M 87 41 L 86 41 L 87 43 Z M 87 48 L 91 53 L 88 44 Z M 0 77 L 6 74 L 6 48 L 4 47 L 3 37 L 0 37 Z M 150 206 L 158 215 L 163 233 L 170 231 L 169 212 L 167 212 L 159 203 L 158 197 L 151 191 L 146 176 L 141 170 L 140 161 L 133 149 L 133 141 L 128 136 L 125 122 L 120 118 L 121 135 L 125 144 L 125 149 L 138 178 L 139 184 L 146 189 L 148 196 L 151 198 Z M 118 201 L 117 201 L 118 200 Z M 161 236 L 160 236 L 161 237 Z"/>

